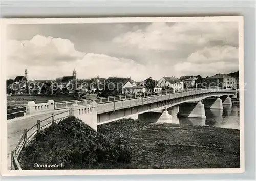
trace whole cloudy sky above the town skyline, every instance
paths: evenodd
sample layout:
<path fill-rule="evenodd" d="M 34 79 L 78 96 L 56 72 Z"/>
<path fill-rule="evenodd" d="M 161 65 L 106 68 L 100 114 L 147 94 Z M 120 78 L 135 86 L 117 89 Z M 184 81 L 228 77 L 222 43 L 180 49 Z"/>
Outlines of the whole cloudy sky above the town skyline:
<path fill-rule="evenodd" d="M 7 78 L 212 76 L 239 70 L 237 22 L 17 24 L 7 27 Z"/>

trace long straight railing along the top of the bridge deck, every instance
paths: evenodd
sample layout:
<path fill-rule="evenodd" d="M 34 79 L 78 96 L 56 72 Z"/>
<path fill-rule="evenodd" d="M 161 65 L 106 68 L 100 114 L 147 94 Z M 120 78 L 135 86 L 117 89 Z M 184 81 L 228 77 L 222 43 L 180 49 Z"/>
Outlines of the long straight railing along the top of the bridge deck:
<path fill-rule="evenodd" d="M 197 88 L 194 90 L 186 90 L 183 92 L 173 93 L 171 90 L 165 90 L 162 92 L 149 92 L 149 93 L 139 93 L 139 94 L 122 94 L 118 96 L 109 96 L 109 97 L 101 97 L 97 99 L 81 99 L 81 100 L 72 100 L 72 101 L 62 101 L 62 102 L 55 102 L 55 110 L 58 109 L 65 109 L 71 107 L 72 104 L 77 103 L 78 105 L 87 105 L 91 101 L 95 101 L 97 104 L 107 103 L 107 102 L 114 102 L 119 100 L 130 100 L 136 99 L 141 97 L 152 97 L 152 96 L 164 96 L 164 95 L 173 95 L 173 96 L 188 96 L 192 94 L 201 94 L 201 93 L 209 93 L 209 92 L 236 92 L 236 90 L 229 90 L 229 89 L 201 89 Z"/>

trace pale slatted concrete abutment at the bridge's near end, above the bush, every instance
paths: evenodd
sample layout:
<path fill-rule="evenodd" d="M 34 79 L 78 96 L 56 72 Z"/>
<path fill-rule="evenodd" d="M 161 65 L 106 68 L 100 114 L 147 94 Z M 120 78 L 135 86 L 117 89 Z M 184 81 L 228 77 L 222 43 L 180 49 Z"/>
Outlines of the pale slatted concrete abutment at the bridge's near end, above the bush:
<path fill-rule="evenodd" d="M 97 103 L 92 101 L 89 105 L 79 106 L 72 104 L 70 116 L 74 116 L 97 131 Z"/>

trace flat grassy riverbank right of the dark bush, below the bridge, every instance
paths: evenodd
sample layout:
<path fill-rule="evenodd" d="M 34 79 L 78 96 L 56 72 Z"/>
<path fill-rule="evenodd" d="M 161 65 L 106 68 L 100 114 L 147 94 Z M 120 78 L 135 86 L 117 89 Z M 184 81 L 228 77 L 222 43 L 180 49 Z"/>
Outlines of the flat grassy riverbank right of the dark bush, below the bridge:
<path fill-rule="evenodd" d="M 240 132 L 236 129 L 123 119 L 98 126 L 98 132 L 110 140 L 126 140 L 133 156 L 123 168 L 240 167 Z"/>

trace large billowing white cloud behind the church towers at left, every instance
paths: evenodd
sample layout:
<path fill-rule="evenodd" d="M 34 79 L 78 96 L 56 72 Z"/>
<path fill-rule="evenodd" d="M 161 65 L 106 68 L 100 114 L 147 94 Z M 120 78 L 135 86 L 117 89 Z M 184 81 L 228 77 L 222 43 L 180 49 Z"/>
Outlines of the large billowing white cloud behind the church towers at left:
<path fill-rule="evenodd" d="M 148 67 L 134 60 L 79 52 L 67 39 L 36 35 L 30 41 L 10 40 L 8 45 L 10 51 L 7 69 L 9 77 L 13 78 L 23 75 L 25 68 L 32 80 L 69 76 L 74 68 L 78 78 L 90 78 L 99 74 L 101 77 L 132 76 L 136 80 L 142 80 L 150 76 Z M 63 59 L 59 59 L 60 57 Z M 63 61 L 66 59 L 70 61 Z"/>

